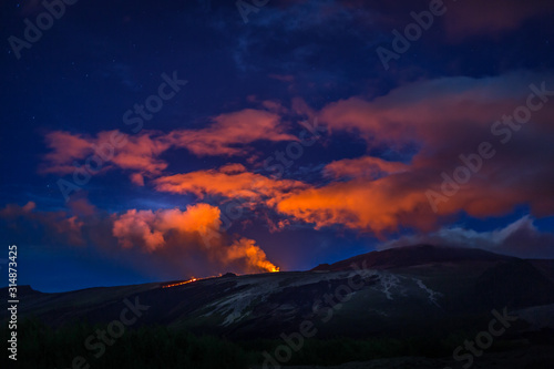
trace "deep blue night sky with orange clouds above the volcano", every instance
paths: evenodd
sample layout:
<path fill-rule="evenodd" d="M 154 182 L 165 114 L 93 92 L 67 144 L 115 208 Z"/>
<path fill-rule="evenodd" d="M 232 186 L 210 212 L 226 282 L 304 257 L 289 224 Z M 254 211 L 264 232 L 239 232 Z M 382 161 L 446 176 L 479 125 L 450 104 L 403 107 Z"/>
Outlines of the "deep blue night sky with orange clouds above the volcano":
<path fill-rule="evenodd" d="M 554 257 L 552 1 L 0 7 L 0 258 L 18 245 L 20 285 L 418 243 Z"/>

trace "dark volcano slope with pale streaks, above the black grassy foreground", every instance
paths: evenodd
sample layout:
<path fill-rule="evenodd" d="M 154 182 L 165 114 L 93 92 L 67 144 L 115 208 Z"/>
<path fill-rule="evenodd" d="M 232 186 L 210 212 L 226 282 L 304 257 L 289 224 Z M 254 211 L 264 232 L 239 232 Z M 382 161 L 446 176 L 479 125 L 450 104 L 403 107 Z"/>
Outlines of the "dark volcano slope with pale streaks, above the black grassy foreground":
<path fill-rule="evenodd" d="M 550 267 L 544 260 L 478 249 L 414 246 L 310 271 L 228 275 L 171 288 L 146 284 L 60 294 L 20 288 L 19 316 L 34 316 L 52 327 L 111 321 L 126 298 L 148 306 L 138 326 L 268 338 L 311 319 L 320 326 L 319 337 L 356 337 L 447 321 L 455 326 L 455 317 L 480 317 L 504 307 L 525 311 L 548 306 L 554 304 Z"/>

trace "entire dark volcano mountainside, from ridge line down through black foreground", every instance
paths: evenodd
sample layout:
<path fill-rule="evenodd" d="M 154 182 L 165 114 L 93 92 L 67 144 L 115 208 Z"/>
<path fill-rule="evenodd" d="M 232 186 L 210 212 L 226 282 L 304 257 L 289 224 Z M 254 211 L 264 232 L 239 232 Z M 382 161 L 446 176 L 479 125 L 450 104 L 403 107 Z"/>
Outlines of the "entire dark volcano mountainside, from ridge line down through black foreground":
<path fill-rule="evenodd" d="M 524 350 L 526 353 L 520 356 L 527 357 L 536 345 L 552 345 L 553 267 L 551 260 L 414 246 L 369 253 L 309 271 L 229 274 L 170 288 L 164 287 L 175 283 L 61 294 L 20 287 L 19 319 L 33 318 L 31 326 L 25 326 L 28 335 L 50 337 L 54 340 L 51 347 L 76 335 L 72 342 L 82 350 L 88 335 L 96 329 L 93 326 L 105 329 L 111 321 L 133 317 L 126 327 L 131 332 L 117 345 L 138 348 L 137 357 L 148 352 L 147 347 L 156 347 L 165 350 L 167 360 L 188 352 L 164 365 L 189 366 L 196 362 L 191 358 L 212 357 L 207 352 L 223 350 L 234 352 L 229 353 L 233 360 L 238 360 L 237 355 L 242 360 L 229 367 L 242 367 L 246 361 L 260 361 L 263 350 L 271 352 L 284 342 L 283 337 L 298 337 L 299 332 L 306 344 L 286 360 L 288 363 L 332 365 L 404 355 L 412 357 L 406 360 L 447 356 L 448 361 L 451 350 L 488 329 L 495 310 L 516 317 L 502 340 L 516 342 L 514 347 L 506 344 L 507 348 Z M 1 314 L 6 319 L 6 311 Z M 34 325 L 42 328 L 32 328 Z M 50 334 L 42 332 L 43 325 L 51 327 L 47 328 Z M 152 328 L 156 326 L 160 328 Z M 218 338 L 203 341 L 188 332 Z M 246 344 L 233 346 L 227 340 Z M 495 347 L 502 348 L 502 340 Z M 117 355 L 123 353 L 112 350 L 103 360 Z M 196 363 L 192 367 L 202 367 Z M 107 360 L 105 366 L 110 365 Z M 389 365 L 393 367 L 393 362 Z"/>

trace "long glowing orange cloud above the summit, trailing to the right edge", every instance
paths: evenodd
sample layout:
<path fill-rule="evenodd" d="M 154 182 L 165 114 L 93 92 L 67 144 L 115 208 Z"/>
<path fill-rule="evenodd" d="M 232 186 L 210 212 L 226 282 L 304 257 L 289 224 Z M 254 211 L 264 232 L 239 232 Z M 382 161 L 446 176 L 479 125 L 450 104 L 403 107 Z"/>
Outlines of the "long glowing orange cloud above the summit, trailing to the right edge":
<path fill-rule="evenodd" d="M 545 155 L 547 144 L 535 142 Z M 317 228 L 342 225 L 347 228 L 383 236 L 412 227 L 432 230 L 448 216 L 464 211 L 474 217 L 499 216 L 511 212 L 519 204 L 529 204 L 535 215 L 554 214 L 553 176 L 548 161 L 535 156 L 537 162 L 519 160 L 513 152 L 497 154 L 448 202 L 433 212 L 427 191 L 440 191 L 441 167 L 429 167 L 418 162 L 407 171 L 378 180 L 357 177 L 348 182 L 330 183 L 293 192 L 277 203 L 276 209 L 293 218 L 312 223 Z M 523 157 L 526 157 L 523 155 Z M 551 162 L 552 163 L 552 162 Z M 460 163 L 451 163 L 445 171 Z M 531 168 L 532 167 L 532 168 Z M 522 175 L 525 173 L 525 175 Z M 510 178 L 510 181 L 506 181 Z"/>

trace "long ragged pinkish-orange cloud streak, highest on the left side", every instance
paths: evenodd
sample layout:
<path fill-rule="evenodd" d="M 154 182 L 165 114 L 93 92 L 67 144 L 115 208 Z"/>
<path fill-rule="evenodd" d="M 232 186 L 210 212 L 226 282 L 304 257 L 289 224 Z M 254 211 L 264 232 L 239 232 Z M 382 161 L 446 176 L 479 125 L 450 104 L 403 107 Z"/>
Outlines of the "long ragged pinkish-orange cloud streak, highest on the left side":
<path fill-rule="evenodd" d="M 39 172 L 72 174 L 76 170 L 74 163 L 92 174 L 119 167 L 132 172 L 133 183 L 144 185 L 145 177 L 158 176 L 167 168 L 160 156 L 170 148 L 184 147 L 197 156 L 243 155 L 249 151 L 246 145 L 256 141 L 297 140 L 285 130 L 278 114 L 245 109 L 215 116 L 206 129 L 166 134 L 142 131 L 130 135 L 115 130 L 102 131 L 93 137 L 55 131 L 45 135 L 51 152 L 43 156 Z"/>

